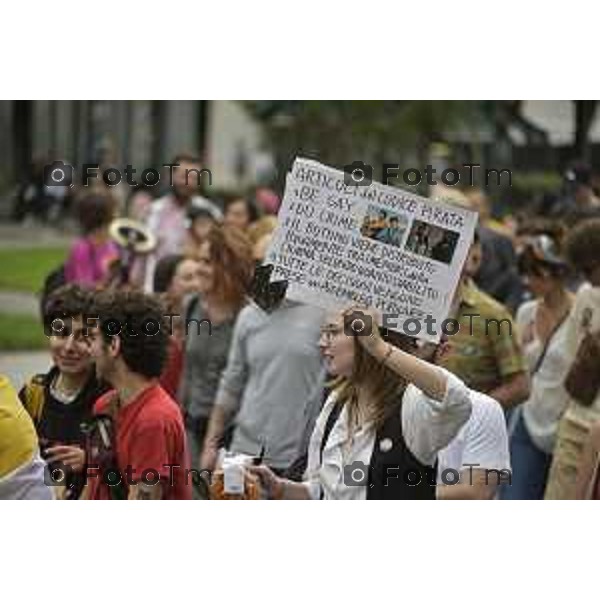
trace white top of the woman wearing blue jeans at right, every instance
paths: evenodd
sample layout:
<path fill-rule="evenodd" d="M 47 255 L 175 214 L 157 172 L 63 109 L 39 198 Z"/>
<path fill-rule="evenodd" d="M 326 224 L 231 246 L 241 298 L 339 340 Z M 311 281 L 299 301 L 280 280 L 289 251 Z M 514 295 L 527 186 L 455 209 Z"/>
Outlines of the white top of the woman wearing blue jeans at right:
<path fill-rule="evenodd" d="M 519 308 L 517 325 L 520 331 L 535 327 L 538 306 L 539 300 L 531 300 Z M 565 352 L 568 321 L 568 318 L 565 319 L 554 332 L 542 364 L 532 375 L 529 399 L 523 404 L 523 420 L 527 431 L 533 443 L 546 454 L 552 454 L 558 421 L 569 403 L 569 394 L 563 385 L 572 361 Z M 536 335 L 523 344 L 530 371 L 533 371 L 542 350 L 543 345 Z"/>

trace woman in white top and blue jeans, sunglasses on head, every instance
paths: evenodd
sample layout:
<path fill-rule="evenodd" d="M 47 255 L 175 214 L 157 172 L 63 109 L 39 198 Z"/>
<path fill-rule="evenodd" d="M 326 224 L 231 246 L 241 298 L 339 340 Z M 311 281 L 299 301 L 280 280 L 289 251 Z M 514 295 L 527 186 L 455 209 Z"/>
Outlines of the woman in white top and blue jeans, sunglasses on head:
<path fill-rule="evenodd" d="M 569 367 L 564 346 L 573 294 L 567 289 L 567 262 L 551 235 L 524 238 L 519 271 L 534 296 L 520 306 L 516 317 L 531 374 L 531 392 L 510 435 L 512 481 L 501 488 L 500 496 L 504 500 L 541 500 L 558 423 L 569 399 L 563 387 Z"/>

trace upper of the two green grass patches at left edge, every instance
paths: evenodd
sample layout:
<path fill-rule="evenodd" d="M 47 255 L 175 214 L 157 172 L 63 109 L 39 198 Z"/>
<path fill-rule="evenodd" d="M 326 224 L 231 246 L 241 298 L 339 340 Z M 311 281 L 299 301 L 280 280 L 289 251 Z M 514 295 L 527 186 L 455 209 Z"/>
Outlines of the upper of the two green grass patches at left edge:
<path fill-rule="evenodd" d="M 0 249 L 0 290 L 38 292 L 50 271 L 67 257 L 66 248 Z"/>

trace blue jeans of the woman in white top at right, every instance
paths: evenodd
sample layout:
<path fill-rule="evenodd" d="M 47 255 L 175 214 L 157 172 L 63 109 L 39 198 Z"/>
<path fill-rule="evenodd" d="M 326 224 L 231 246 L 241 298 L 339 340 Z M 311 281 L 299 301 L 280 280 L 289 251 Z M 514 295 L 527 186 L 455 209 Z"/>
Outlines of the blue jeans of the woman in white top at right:
<path fill-rule="evenodd" d="M 543 500 L 552 455 L 542 452 L 532 441 L 522 410 L 510 435 L 511 484 L 503 484 L 500 500 Z"/>

